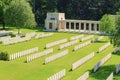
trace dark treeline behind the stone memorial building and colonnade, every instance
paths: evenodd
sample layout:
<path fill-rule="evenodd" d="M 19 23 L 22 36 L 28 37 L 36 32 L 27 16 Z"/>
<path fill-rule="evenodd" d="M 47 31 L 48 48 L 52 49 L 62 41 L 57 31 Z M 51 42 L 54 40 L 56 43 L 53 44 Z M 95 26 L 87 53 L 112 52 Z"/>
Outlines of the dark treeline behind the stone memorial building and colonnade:
<path fill-rule="evenodd" d="M 120 0 L 27 0 L 38 25 L 44 24 L 46 13 L 63 12 L 66 19 L 100 20 L 104 14 L 115 15 Z M 1 15 L 1 14 L 0 14 Z"/>

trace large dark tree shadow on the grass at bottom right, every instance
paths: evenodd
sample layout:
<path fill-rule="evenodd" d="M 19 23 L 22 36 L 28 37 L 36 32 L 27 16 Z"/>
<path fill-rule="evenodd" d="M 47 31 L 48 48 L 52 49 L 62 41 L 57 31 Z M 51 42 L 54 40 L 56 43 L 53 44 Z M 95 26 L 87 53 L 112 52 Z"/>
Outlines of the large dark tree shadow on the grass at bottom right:
<path fill-rule="evenodd" d="M 114 72 L 116 69 L 115 65 L 108 65 L 108 66 L 102 66 L 99 68 L 97 72 L 93 72 L 93 70 L 90 70 L 90 77 L 96 79 L 96 80 L 106 80 L 107 77 Z"/>

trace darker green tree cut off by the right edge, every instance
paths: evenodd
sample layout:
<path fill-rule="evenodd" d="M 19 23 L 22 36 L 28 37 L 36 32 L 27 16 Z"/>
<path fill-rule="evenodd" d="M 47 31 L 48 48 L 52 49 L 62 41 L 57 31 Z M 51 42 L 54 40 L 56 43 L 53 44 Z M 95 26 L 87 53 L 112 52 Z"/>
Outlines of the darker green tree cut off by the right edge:
<path fill-rule="evenodd" d="M 112 33 L 111 42 L 114 46 L 120 47 L 120 12 L 115 17 L 115 31 Z"/>

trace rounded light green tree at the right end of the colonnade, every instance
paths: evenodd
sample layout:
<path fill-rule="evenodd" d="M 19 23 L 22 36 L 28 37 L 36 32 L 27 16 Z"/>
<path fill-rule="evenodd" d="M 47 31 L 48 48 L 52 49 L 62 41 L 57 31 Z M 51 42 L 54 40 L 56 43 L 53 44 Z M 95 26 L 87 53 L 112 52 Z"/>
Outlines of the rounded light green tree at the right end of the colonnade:
<path fill-rule="evenodd" d="M 101 32 L 112 33 L 115 30 L 115 17 L 105 14 L 100 20 Z"/>

